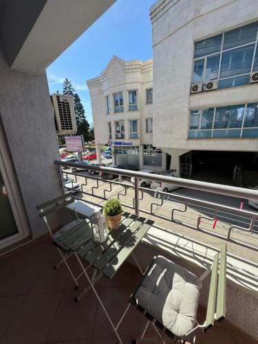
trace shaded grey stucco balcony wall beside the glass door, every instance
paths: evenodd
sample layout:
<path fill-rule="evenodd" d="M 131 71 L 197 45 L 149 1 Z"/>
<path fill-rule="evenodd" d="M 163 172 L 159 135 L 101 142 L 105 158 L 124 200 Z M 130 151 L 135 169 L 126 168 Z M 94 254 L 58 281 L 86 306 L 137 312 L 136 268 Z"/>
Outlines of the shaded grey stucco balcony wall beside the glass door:
<path fill-rule="evenodd" d="M 45 73 L 34 76 L 10 69 L 0 50 L 0 82 L 1 119 L 32 235 L 37 237 L 46 229 L 35 206 L 61 195 L 53 164 L 59 155 L 47 78 Z"/>

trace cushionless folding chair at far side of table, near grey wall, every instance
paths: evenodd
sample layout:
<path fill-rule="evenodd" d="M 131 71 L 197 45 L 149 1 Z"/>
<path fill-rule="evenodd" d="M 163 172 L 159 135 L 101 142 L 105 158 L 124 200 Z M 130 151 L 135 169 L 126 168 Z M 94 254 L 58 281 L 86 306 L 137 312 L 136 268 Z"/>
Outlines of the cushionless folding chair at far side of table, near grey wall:
<path fill-rule="evenodd" d="M 90 235 L 92 235 L 92 230 L 89 227 L 89 223 L 87 223 L 85 221 L 85 219 L 79 219 L 78 218 L 78 214 L 76 212 L 76 208 L 74 207 L 74 213 L 76 215 L 76 219 L 72 222 L 69 222 L 69 224 L 63 226 L 61 229 L 59 229 L 56 233 L 52 233 L 52 230 L 50 228 L 50 225 L 47 222 L 47 215 L 50 215 L 51 213 L 60 210 L 61 208 L 65 208 L 66 206 L 68 206 L 69 204 L 74 203 L 74 198 L 72 198 L 72 194 L 74 193 L 74 191 L 71 191 L 69 193 L 66 193 L 65 195 L 59 196 L 54 198 L 53 200 L 44 202 L 42 204 L 39 204 L 39 206 L 36 206 L 36 209 L 39 211 L 39 217 L 43 218 L 47 229 L 50 232 L 50 235 L 52 237 L 52 240 L 54 241 L 54 243 L 58 243 L 56 245 L 56 248 L 58 250 L 58 252 L 61 255 L 61 261 L 59 261 L 59 263 L 54 266 L 54 269 L 57 269 L 59 266 L 61 266 L 61 264 L 65 264 L 65 266 L 67 267 L 67 270 L 69 271 L 69 274 L 72 276 L 72 279 L 74 279 L 74 283 L 75 283 L 75 289 L 78 289 L 78 279 L 83 275 L 80 274 L 78 277 L 75 277 L 72 270 L 69 268 L 69 265 L 67 264 L 67 259 L 69 257 L 72 257 L 72 255 L 74 255 L 74 250 L 71 250 L 68 246 L 66 246 L 65 244 L 60 244 L 60 240 L 65 237 L 65 233 L 69 232 L 69 233 L 78 233 L 80 231 L 85 231 L 85 228 L 87 229 L 87 232 L 90 233 Z"/>

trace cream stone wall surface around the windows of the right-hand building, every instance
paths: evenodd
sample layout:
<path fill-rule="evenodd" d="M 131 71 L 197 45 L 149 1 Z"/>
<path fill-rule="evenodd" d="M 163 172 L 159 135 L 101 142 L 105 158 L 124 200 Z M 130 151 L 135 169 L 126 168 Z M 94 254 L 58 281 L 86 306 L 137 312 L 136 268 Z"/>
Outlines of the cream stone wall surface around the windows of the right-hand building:
<path fill-rule="evenodd" d="M 151 8 L 153 145 L 180 149 L 257 151 L 257 139 L 188 140 L 191 107 L 258 99 L 258 85 L 189 95 L 194 41 L 258 20 L 257 0 L 166 0 Z"/>

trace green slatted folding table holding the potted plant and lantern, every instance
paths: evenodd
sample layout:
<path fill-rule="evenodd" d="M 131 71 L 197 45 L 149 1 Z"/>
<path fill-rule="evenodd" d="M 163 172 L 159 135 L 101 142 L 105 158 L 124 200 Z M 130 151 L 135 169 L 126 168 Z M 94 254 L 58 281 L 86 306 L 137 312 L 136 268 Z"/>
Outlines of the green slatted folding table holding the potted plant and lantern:
<path fill-rule="evenodd" d="M 153 223 L 153 221 L 145 219 L 144 217 L 137 217 L 136 215 L 124 212 L 122 213 L 122 222 L 119 228 L 111 230 L 107 241 L 103 244 L 96 244 L 92 240 L 92 228 L 89 226 L 89 220 L 85 220 L 84 226 L 74 226 L 67 229 L 62 228 L 52 236 L 54 244 L 56 244 L 58 248 L 65 252 L 73 252 L 76 256 L 78 264 L 83 270 L 83 272 L 76 277 L 76 281 L 78 281 L 79 277 L 85 275 L 89 282 L 89 286 L 85 288 L 78 297 L 76 297 L 75 301 L 79 301 L 87 291 L 92 288 L 107 316 L 107 319 L 109 320 L 109 323 L 116 332 L 116 336 L 120 343 L 122 343 L 122 341 L 117 330 L 122 319 L 127 313 L 129 306 L 127 307 L 127 310 L 125 310 L 125 313 L 122 314 L 118 324 L 114 325 L 107 313 L 107 310 L 105 310 L 94 285 L 103 276 L 109 279 L 114 277 L 129 255 L 132 255 L 143 275 L 144 272 L 140 268 L 140 264 L 138 263 L 135 255 L 133 255 L 133 250 L 140 243 L 142 237 L 147 233 L 149 228 L 151 228 Z M 82 260 L 87 261 L 88 265 L 86 268 L 83 266 Z M 92 279 L 89 278 L 87 273 L 90 266 L 94 267 Z"/>

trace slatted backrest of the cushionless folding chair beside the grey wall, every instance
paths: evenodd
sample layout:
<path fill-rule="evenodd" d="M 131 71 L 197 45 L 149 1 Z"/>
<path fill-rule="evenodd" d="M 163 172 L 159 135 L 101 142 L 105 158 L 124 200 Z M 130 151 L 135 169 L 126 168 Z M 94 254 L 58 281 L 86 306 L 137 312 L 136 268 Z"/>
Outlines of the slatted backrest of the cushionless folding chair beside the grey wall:
<path fill-rule="evenodd" d="M 45 217 L 50 213 L 58 211 L 59 209 L 64 208 L 68 204 L 74 202 L 74 198 L 71 198 L 72 194 L 73 191 L 66 193 L 65 195 L 53 198 L 52 200 L 49 200 L 42 204 L 39 204 L 39 206 L 36 206 L 36 210 L 39 211 L 39 217 Z"/>

